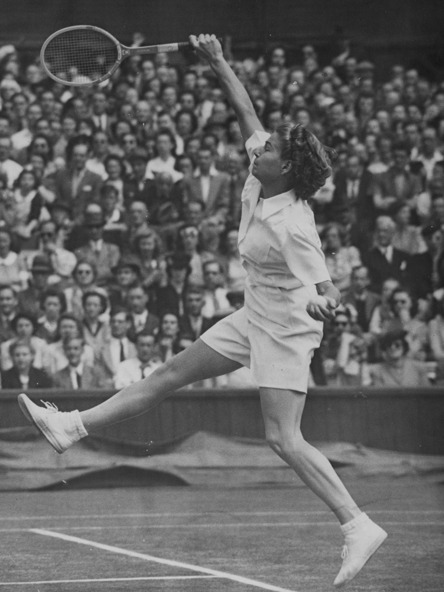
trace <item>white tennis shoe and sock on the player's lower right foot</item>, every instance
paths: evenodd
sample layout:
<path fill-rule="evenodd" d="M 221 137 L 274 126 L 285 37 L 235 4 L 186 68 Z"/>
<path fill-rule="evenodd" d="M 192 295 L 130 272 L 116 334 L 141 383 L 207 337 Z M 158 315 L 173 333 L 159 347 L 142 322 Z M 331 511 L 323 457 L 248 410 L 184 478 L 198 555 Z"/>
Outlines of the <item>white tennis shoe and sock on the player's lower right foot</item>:
<path fill-rule="evenodd" d="M 334 580 L 336 588 L 353 580 L 387 538 L 387 532 L 364 512 L 341 526 L 341 530 L 345 535 L 345 545 L 341 555 L 342 567 Z"/>

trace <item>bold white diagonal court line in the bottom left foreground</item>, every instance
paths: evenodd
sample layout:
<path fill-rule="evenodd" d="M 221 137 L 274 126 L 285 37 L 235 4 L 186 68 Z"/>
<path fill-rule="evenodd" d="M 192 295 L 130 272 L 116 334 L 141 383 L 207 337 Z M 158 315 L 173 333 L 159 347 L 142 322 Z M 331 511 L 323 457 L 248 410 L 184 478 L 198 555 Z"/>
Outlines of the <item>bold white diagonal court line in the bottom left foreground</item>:
<path fill-rule="evenodd" d="M 274 592 L 296 592 L 295 590 L 288 590 L 288 588 L 280 588 L 272 584 L 265 584 L 257 580 L 250 580 L 244 578 L 242 575 L 229 574 L 226 571 L 210 570 L 207 567 L 200 567 L 199 565 L 192 565 L 189 563 L 182 563 L 181 561 L 173 561 L 172 559 L 162 559 L 153 555 L 146 555 L 144 553 L 137 553 L 136 551 L 128 551 L 128 549 L 122 549 L 111 545 L 104 545 L 103 543 L 97 543 L 94 540 L 79 539 L 76 536 L 64 535 L 63 533 L 53 532 L 52 530 L 43 530 L 39 528 L 31 528 L 30 532 L 34 532 L 37 535 L 53 536 L 56 539 L 69 540 L 73 543 L 79 543 L 79 545 L 88 545 L 89 547 L 96 547 L 97 549 L 103 549 L 103 551 L 110 551 L 111 553 L 118 553 L 120 555 L 127 555 L 129 557 L 137 557 L 138 559 L 144 559 L 144 561 L 154 561 L 162 565 L 170 565 L 171 567 L 179 567 L 183 570 L 197 571 L 202 574 L 214 575 L 218 578 L 226 578 L 227 580 L 233 580 L 240 584 L 247 584 L 255 586 L 256 588 L 263 588 L 263 590 L 272 590 Z"/>

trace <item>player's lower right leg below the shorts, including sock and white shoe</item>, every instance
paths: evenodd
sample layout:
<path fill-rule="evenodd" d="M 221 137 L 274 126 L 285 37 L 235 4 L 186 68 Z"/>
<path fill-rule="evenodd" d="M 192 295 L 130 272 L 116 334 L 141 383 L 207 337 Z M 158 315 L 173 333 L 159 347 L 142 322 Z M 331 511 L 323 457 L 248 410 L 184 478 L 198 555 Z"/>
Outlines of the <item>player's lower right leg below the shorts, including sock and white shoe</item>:
<path fill-rule="evenodd" d="M 387 533 L 359 510 L 332 465 L 301 434 L 303 392 L 260 388 L 265 436 L 271 448 L 336 514 L 345 535 L 343 564 L 334 585 L 340 587 L 362 569 Z"/>

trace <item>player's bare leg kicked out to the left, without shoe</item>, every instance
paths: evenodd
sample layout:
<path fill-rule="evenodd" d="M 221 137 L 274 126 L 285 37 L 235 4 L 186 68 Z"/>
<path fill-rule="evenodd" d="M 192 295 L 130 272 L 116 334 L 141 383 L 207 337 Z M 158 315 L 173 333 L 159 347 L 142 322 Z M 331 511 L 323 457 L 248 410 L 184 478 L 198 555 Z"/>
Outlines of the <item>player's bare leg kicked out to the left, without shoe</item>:
<path fill-rule="evenodd" d="M 149 377 L 124 388 L 104 403 L 82 411 L 83 425 L 86 430 L 92 430 L 135 417 L 160 403 L 169 392 L 191 382 L 233 372 L 241 366 L 198 339 Z"/>

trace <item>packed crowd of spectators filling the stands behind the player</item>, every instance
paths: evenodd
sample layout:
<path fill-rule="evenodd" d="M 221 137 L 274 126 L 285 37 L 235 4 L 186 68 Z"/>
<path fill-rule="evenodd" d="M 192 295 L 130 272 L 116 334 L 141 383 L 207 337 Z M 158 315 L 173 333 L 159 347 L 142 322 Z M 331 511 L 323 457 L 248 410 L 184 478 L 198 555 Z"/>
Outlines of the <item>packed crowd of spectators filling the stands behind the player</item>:
<path fill-rule="evenodd" d="M 328 65 L 312 46 L 228 57 L 267 131 L 303 124 L 337 154 L 309 201 L 342 294 L 313 382 L 441 384 L 444 83 L 381 80 L 347 45 Z M 2 388 L 122 388 L 242 307 L 246 151 L 211 70 L 178 64 L 133 56 L 76 87 L 0 48 Z"/>

